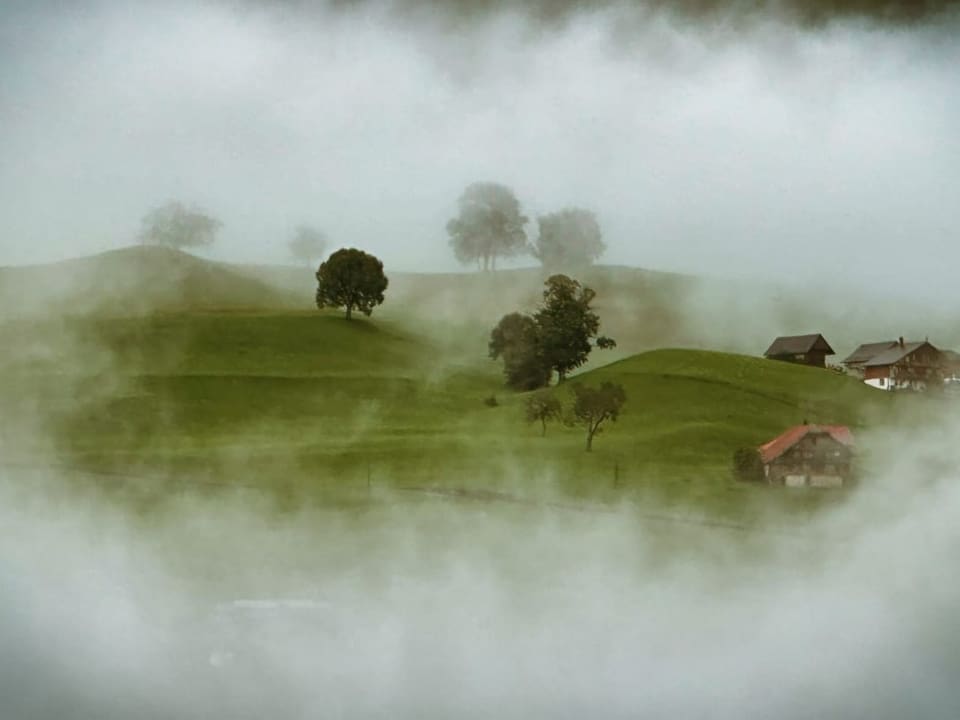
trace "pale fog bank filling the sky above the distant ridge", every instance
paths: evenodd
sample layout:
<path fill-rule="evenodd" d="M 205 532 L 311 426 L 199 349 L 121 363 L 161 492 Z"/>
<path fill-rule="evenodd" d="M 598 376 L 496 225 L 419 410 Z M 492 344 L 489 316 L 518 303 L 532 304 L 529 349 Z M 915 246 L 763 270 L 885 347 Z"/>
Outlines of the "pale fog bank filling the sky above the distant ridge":
<path fill-rule="evenodd" d="M 309 222 L 451 270 L 491 179 L 595 209 L 607 263 L 948 298 L 955 4 L 748 5 L 6 3 L 0 264 L 178 198 L 215 258 L 282 262 Z"/>

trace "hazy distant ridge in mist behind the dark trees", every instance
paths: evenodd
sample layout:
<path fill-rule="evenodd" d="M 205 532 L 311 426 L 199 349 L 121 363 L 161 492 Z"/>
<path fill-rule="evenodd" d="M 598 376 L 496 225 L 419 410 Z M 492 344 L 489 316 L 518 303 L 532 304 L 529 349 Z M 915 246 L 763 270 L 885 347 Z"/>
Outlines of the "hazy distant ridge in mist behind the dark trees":
<path fill-rule="evenodd" d="M 374 319 L 430 335 L 453 358 L 485 353 L 490 327 L 507 312 L 532 311 L 547 273 L 399 273 Z M 909 305 L 879 289 L 778 287 L 619 266 L 586 268 L 576 277 L 597 291 L 602 332 L 615 360 L 658 347 L 762 353 L 776 335 L 822 332 L 839 361 L 862 342 L 929 337 L 960 345 L 947 311 Z M 138 246 L 49 265 L 0 268 L 0 318 L 49 314 L 142 315 L 153 312 L 311 310 L 307 267 L 235 265 L 160 247 Z"/>

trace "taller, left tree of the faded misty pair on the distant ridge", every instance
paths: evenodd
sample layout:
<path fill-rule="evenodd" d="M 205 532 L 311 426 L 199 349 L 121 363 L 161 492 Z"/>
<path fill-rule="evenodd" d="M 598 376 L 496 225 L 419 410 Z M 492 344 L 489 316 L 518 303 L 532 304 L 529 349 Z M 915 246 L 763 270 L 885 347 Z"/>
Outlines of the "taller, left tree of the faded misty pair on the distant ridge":
<path fill-rule="evenodd" d="M 477 263 L 495 270 L 497 257 L 519 255 L 527 250 L 523 226 L 527 218 L 513 191 L 498 183 L 468 185 L 460 196 L 459 214 L 447 223 L 453 252 L 463 264 Z"/>

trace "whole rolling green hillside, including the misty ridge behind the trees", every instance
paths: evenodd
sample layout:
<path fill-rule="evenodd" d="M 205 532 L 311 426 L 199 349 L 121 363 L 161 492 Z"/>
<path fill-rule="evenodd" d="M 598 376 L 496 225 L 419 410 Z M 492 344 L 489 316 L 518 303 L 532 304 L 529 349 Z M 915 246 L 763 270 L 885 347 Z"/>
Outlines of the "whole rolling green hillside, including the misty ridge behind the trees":
<path fill-rule="evenodd" d="M 146 247 L 0 269 L 14 316 L 0 322 L 0 449 L 160 488 L 202 481 L 331 502 L 378 489 L 493 489 L 655 497 L 740 516 L 823 500 L 734 482 L 736 448 L 803 420 L 895 422 L 916 400 L 746 355 L 640 352 L 755 355 L 773 328 L 824 329 L 838 349 L 841 330 L 870 336 L 861 311 L 764 305 L 756 288 L 595 267 L 582 279 L 618 349 L 594 353 L 571 382 L 613 380 L 628 401 L 588 454 L 578 429 L 539 437 L 523 420 L 525 396 L 505 391 L 486 359 L 500 315 L 535 306 L 540 270 L 390 275 L 373 317 L 346 322 L 312 308 L 306 269 Z"/>

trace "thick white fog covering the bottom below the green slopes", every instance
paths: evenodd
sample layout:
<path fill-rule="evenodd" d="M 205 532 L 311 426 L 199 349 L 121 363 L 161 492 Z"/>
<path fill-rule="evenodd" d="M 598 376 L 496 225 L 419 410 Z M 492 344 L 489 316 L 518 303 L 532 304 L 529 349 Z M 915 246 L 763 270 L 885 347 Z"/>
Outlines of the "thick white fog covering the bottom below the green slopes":
<path fill-rule="evenodd" d="M 960 438 L 898 438 L 780 530 L 194 491 L 138 517 L 5 470 L 4 717 L 953 717 Z"/>

